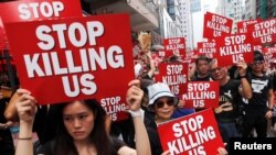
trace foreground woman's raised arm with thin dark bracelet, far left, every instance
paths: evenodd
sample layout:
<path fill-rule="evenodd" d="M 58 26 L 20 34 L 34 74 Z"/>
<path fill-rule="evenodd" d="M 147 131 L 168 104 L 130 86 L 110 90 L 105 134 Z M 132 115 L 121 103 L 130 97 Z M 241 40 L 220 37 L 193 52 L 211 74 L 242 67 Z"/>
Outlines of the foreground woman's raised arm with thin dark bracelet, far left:
<path fill-rule="evenodd" d="M 20 121 L 20 131 L 15 155 L 33 155 L 32 126 L 36 101 L 31 92 L 25 89 L 18 89 L 17 93 L 19 98 L 14 102 Z"/>

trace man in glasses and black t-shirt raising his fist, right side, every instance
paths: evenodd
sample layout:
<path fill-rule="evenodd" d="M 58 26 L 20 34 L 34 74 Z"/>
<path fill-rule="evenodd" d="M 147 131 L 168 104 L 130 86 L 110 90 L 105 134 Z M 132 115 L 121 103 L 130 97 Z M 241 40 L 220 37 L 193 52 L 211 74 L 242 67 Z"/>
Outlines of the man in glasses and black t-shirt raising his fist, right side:
<path fill-rule="evenodd" d="M 252 89 L 246 80 L 245 63 L 236 64 L 241 80 L 231 79 L 227 76 L 226 67 L 219 67 L 217 60 L 211 62 L 211 73 L 214 80 L 220 85 L 220 102 L 219 107 L 214 108 L 219 129 L 223 142 L 227 143 L 230 137 L 240 136 L 236 129 L 236 119 L 240 117 L 240 100 L 242 97 L 252 98 Z M 241 97 L 242 96 L 242 97 Z"/>

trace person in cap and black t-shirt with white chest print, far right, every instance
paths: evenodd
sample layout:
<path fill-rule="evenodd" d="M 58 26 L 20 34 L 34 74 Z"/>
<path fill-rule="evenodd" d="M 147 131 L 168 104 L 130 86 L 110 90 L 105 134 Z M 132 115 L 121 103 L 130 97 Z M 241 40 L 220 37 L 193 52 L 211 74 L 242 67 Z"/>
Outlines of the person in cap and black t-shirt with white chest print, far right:
<path fill-rule="evenodd" d="M 251 64 L 252 71 L 247 76 L 247 80 L 252 87 L 253 96 L 251 99 L 244 100 L 244 137 L 247 137 L 253 129 L 256 130 L 257 137 L 266 137 L 267 119 L 273 117 L 273 81 L 263 71 L 264 63 L 265 59 L 263 54 L 259 51 L 255 51 L 254 62 Z"/>

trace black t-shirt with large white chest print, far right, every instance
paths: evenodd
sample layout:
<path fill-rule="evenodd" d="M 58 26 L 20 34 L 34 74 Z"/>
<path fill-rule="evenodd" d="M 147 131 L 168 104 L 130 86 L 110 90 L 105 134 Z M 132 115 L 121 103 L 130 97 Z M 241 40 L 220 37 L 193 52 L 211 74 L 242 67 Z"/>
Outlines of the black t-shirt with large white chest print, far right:
<path fill-rule="evenodd" d="M 251 74 L 247 77 L 251 87 L 252 87 L 252 98 L 248 100 L 248 102 L 245 100 L 245 110 L 247 111 L 267 111 L 267 100 L 268 100 L 268 90 L 273 89 L 273 81 L 272 78 L 269 78 L 266 75 L 263 75 L 262 77 L 258 77 L 254 74 Z"/>

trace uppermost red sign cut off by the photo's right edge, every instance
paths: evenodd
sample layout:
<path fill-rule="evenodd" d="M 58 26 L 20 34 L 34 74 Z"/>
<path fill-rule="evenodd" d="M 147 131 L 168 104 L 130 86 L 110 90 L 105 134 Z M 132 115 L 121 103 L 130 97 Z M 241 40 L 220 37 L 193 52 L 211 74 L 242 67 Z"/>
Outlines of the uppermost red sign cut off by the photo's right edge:
<path fill-rule="evenodd" d="M 276 18 L 248 25 L 248 32 L 255 44 L 276 42 Z"/>

